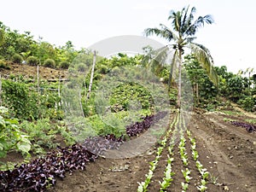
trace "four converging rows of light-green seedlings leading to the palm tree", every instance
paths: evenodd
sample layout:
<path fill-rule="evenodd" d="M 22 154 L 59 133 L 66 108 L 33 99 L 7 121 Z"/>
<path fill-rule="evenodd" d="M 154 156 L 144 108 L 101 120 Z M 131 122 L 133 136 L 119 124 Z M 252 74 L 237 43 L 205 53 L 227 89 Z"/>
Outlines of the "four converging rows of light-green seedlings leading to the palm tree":
<path fill-rule="evenodd" d="M 168 131 L 166 131 L 165 137 L 162 138 L 160 141 L 160 147 L 156 149 L 156 157 L 153 161 L 149 163 L 149 170 L 148 174 L 146 174 L 146 178 L 143 182 L 138 183 L 139 186 L 137 188 L 137 192 L 145 192 L 148 190 L 148 185 L 151 182 L 151 178 L 154 176 L 154 170 L 156 166 L 159 163 L 160 155 L 164 148 L 167 147 L 169 154 L 167 154 L 167 164 L 166 169 L 163 174 L 163 178 L 160 183 L 160 192 L 165 192 L 167 189 L 171 188 L 171 184 L 173 177 L 175 175 L 175 172 L 172 171 L 173 162 L 175 162 L 175 155 L 173 154 L 173 148 L 176 145 L 177 142 L 177 135 L 179 135 L 179 143 L 177 144 L 178 153 L 180 154 L 180 159 L 183 162 L 183 168 L 181 167 L 181 172 L 183 174 L 183 182 L 181 182 L 181 188 L 182 192 L 187 191 L 189 189 L 189 184 L 191 182 L 192 177 L 191 170 L 189 170 L 189 164 L 195 164 L 196 169 L 198 170 L 199 177 L 201 178 L 200 183 L 196 183 L 196 189 L 201 192 L 205 192 L 207 190 L 207 180 L 209 177 L 209 172 L 207 172 L 207 169 L 204 168 L 204 166 L 201 164 L 201 161 L 199 160 L 199 154 L 196 150 L 196 142 L 195 137 L 192 137 L 191 131 L 187 130 L 185 117 L 183 113 L 178 113 L 175 118 L 172 120 L 172 124 L 170 125 Z M 187 143 L 186 136 L 189 138 L 189 143 Z M 172 137 L 171 137 L 172 136 Z M 170 143 L 168 146 L 166 146 L 166 142 L 168 141 L 168 138 Z M 186 151 L 186 145 L 189 144 L 191 149 L 191 154 L 194 162 L 189 162 L 188 153 Z M 193 161 L 192 160 L 192 161 Z"/>

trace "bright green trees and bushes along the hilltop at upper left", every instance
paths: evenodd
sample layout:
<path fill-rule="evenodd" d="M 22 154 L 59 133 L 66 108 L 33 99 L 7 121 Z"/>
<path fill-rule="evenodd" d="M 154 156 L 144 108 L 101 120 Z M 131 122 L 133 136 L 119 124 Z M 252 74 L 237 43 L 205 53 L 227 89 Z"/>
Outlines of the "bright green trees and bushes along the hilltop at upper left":
<path fill-rule="evenodd" d="M 49 67 L 60 67 L 61 62 L 67 62 L 68 64 L 82 52 L 81 50 L 75 50 L 71 41 L 67 41 L 64 46 L 56 47 L 55 45 L 49 44 L 43 41 L 43 38 L 35 40 L 31 32 L 20 33 L 17 30 L 11 30 L 8 26 L 5 26 L 0 21 L 0 35 L 1 44 L 0 46 L 0 59 L 8 61 L 14 61 L 21 63 L 23 60 L 29 64 L 43 64 L 47 59 L 51 59 L 54 62 L 44 63 Z M 37 58 L 37 59 L 35 59 Z M 62 64 L 63 67 L 63 64 Z"/>

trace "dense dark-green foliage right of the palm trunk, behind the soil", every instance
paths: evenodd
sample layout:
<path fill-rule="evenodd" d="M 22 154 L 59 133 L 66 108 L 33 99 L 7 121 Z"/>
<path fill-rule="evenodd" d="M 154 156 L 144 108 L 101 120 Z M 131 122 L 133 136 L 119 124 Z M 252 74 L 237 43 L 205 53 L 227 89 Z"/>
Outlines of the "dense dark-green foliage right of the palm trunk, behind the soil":
<path fill-rule="evenodd" d="M 234 74 L 227 71 L 227 67 L 215 67 L 218 73 L 218 86 L 212 84 L 205 70 L 199 65 L 194 55 L 187 55 L 184 67 L 189 74 L 195 94 L 195 106 L 213 110 L 224 105 L 223 98 L 236 102 L 247 111 L 255 111 L 256 84 L 252 76 Z M 226 104 L 229 102 L 226 102 Z"/>

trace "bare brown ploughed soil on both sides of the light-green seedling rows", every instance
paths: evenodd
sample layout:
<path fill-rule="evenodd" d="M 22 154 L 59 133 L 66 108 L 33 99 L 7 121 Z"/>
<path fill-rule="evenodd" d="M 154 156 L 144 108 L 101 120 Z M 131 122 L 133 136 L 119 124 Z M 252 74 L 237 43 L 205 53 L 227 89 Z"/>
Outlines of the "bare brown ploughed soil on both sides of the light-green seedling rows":
<path fill-rule="evenodd" d="M 245 122 L 245 119 L 255 119 L 255 116 L 246 116 L 245 113 L 226 115 L 224 113 L 206 113 L 195 110 L 187 125 L 192 136 L 196 139 L 196 149 L 201 164 L 207 168 L 210 177 L 207 191 L 256 191 L 256 133 L 248 133 L 245 128 L 231 125 L 225 119 L 234 119 Z M 192 159 L 188 136 L 186 148 L 189 156 L 190 177 L 193 177 L 187 191 L 198 191 L 196 186 L 201 181 L 200 173 Z M 166 191 L 181 191 L 181 182 L 184 182 L 181 170 L 184 170 L 176 143 L 172 171 L 175 172 L 170 188 Z M 158 144 L 151 146 L 143 154 L 130 158 L 103 158 L 86 166 L 84 171 L 73 172 L 62 181 L 57 180 L 50 192 L 94 192 L 94 191 L 137 191 L 138 182 L 145 180 L 148 173 L 148 162 L 154 160 L 154 149 Z M 137 146 L 135 146 L 136 151 Z M 157 168 L 154 171 L 148 191 L 160 190 L 160 183 L 166 168 L 167 149 L 163 150 Z"/>

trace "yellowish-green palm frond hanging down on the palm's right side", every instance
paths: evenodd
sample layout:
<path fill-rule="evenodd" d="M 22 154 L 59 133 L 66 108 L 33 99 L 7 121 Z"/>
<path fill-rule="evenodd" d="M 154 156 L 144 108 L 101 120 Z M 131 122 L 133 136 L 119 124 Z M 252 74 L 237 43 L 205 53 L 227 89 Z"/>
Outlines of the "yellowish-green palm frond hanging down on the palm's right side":
<path fill-rule="evenodd" d="M 207 75 L 212 80 L 212 83 L 218 85 L 218 74 L 214 69 L 213 59 L 209 49 L 201 44 L 195 43 L 190 43 L 188 46 L 196 59 L 200 62 L 201 66 L 206 69 Z"/>

